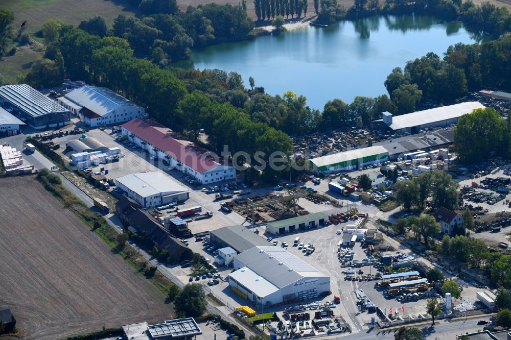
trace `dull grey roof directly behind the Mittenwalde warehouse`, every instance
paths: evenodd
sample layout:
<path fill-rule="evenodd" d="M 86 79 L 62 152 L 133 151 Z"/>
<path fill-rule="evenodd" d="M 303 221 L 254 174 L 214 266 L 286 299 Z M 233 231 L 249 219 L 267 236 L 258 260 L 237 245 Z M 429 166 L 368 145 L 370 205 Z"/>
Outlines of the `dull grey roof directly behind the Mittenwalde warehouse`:
<path fill-rule="evenodd" d="M 257 246 L 271 246 L 271 243 L 244 226 L 222 227 L 210 232 L 230 247 L 243 253 Z"/>

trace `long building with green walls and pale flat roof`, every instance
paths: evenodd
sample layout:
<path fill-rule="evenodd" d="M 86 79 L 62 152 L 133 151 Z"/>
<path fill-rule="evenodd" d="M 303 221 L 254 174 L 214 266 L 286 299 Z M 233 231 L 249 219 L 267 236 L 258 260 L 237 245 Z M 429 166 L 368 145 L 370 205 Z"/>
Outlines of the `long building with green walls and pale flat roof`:
<path fill-rule="evenodd" d="M 378 145 L 363 149 L 343 151 L 333 155 L 309 159 L 311 171 L 328 174 L 337 171 L 356 170 L 364 165 L 378 164 L 388 160 L 388 151 Z"/>

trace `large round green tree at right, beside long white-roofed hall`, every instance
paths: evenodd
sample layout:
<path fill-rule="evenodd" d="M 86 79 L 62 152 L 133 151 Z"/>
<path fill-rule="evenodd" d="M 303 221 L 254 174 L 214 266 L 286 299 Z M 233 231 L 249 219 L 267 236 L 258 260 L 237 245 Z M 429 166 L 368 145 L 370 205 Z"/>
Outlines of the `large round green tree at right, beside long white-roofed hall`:
<path fill-rule="evenodd" d="M 502 152 L 506 123 L 493 108 L 462 115 L 454 128 L 454 147 L 460 162 L 473 163 Z"/>

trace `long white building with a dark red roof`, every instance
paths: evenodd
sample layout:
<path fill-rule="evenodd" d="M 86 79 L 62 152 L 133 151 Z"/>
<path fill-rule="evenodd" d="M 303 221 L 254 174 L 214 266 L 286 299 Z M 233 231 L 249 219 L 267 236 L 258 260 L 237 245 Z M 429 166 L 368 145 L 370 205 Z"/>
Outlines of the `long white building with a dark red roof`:
<path fill-rule="evenodd" d="M 201 184 L 236 178 L 234 166 L 220 163 L 207 150 L 152 119 L 133 119 L 122 125 L 122 134 Z"/>

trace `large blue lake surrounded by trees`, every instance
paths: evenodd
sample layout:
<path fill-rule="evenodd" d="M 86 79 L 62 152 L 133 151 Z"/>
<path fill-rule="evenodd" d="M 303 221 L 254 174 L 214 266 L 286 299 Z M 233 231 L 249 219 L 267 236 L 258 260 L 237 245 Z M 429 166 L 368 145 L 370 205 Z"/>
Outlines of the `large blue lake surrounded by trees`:
<path fill-rule="evenodd" d="M 449 45 L 478 40 L 458 21 L 428 15 L 372 16 L 208 46 L 172 65 L 237 71 L 246 87 L 251 76 L 267 93 L 291 90 L 305 95 L 310 107 L 322 109 L 334 98 L 351 103 L 357 95 L 387 93 L 383 82 L 392 68 L 404 68 L 428 52 L 443 58 Z"/>

